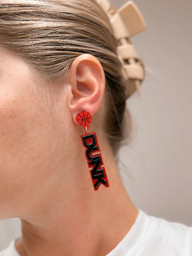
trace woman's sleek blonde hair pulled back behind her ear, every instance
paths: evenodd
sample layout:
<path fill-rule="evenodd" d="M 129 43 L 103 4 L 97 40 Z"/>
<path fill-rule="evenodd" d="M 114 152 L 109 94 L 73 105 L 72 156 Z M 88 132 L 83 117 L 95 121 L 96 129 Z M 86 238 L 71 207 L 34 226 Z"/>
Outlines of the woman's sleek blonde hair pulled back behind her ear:
<path fill-rule="evenodd" d="M 0 44 L 52 83 L 63 80 L 73 60 L 95 56 L 106 77 L 105 132 L 116 153 L 123 138 L 125 86 L 108 16 L 93 0 L 1 0 Z M 129 83 L 129 81 L 127 81 Z M 131 88 L 131 94 L 134 91 Z M 129 131 L 131 126 L 126 130 Z"/>

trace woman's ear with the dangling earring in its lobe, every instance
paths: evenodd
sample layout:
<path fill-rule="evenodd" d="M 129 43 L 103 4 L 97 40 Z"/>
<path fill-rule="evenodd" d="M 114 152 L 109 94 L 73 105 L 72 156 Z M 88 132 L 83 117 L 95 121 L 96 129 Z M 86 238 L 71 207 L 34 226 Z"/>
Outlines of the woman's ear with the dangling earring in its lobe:
<path fill-rule="evenodd" d="M 82 54 L 70 65 L 67 80 L 71 85 L 68 107 L 72 119 L 77 124 L 76 116 L 86 110 L 93 116 L 100 108 L 105 92 L 104 70 L 94 56 Z"/>

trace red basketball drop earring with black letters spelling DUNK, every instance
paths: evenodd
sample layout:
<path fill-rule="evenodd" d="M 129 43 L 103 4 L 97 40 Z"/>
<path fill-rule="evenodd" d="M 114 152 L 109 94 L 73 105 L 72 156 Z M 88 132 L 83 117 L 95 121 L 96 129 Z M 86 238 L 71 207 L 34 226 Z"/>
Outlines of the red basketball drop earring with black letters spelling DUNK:
<path fill-rule="evenodd" d="M 87 158 L 87 164 L 90 169 L 93 188 L 98 190 L 101 184 L 106 188 L 109 187 L 105 167 L 103 166 L 103 160 L 100 153 L 100 148 L 97 141 L 95 132 L 89 132 L 89 124 L 91 123 L 92 116 L 89 112 L 83 110 L 76 116 L 77 123 L 84 126 L 86 132 L 81 135 L 81 140 L 85 148 L 85 156 Z"/>

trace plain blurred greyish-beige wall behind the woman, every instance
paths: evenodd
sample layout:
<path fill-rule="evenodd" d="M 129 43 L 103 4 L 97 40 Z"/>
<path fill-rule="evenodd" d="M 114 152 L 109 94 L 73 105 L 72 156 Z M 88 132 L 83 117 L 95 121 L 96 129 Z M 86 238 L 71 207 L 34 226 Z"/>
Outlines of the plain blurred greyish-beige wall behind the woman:
<path fill-rule="evenodd" d="M 192 1 L 134 2 L 147 24 L 132 38 L 147 76 L 127 102 L 135 140 L 120 151 L 121 175 L 138 208 L 192 226 Z M 0 221 L 0 250 L 18 236 L 19 219 Z"/>

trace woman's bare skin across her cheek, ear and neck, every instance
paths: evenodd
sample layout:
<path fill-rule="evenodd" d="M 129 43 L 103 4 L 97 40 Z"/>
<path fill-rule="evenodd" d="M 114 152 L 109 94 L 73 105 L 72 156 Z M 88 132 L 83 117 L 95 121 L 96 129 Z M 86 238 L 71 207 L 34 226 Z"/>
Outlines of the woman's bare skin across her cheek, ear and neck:
<path fill-rule="evenodd" d="M 77 57 L 68 76 L 47 85 L 19 56 L 0 47 L 0 220 L 18 217 L 21 256 L 104 256 L 134 224 L 105 138 L 98 142 L 109 188 L 93 189 L 76 115 L 104 112 L 105 76 L 92 55 Z M 100 111 L 102 109 L 103 111 Z"/>

